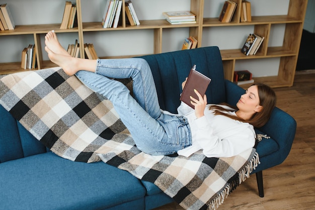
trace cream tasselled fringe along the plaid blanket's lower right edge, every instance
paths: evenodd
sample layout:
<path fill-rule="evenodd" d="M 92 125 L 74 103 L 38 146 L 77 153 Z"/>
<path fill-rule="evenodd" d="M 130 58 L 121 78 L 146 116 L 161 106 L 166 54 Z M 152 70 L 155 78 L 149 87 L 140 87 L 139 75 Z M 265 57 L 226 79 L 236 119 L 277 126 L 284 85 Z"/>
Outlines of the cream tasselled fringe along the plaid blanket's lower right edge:
<path fill-rule="evenodd" d="M 246 178 L 250 177 L 250 173 L 256 169 L 256 167 L 260 164 L 259 162 L 259 155 L 256 152 L 253 156 L 252 160 L 241 170 L 239 171 L 239 182 L 232 181 L 229 183 L 211 202 L 208 204 L 208 210 L 216 210 L 219 205 L 224 202 L 224 198 L 226 198 L 229 193 L 235 189 L 236 186 L 241 184 Z M 237 183 L 238 182 L 238 183 Z"/>

